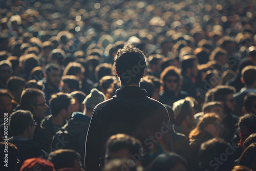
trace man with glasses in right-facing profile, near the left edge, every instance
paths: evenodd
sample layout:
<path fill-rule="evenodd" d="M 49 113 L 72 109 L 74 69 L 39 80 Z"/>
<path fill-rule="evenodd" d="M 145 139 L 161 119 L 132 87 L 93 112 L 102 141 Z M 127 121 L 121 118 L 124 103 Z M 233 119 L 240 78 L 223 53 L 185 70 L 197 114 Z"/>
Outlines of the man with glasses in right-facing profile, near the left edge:
<path fill-rule="evenodd" d="M 45 93 L 38 89 L 28 88 L 22 92 L 20 97 L 20 106 L 17 109 L 28 110 L 32 113 L 33 118 L 37 122 L 33 141 L 38 143 L 44 151 L 48 151 L 46 146 L 47 132 L 39 125 L 41 120 L 45 118 L 49 106 L 46 103 Z"/>

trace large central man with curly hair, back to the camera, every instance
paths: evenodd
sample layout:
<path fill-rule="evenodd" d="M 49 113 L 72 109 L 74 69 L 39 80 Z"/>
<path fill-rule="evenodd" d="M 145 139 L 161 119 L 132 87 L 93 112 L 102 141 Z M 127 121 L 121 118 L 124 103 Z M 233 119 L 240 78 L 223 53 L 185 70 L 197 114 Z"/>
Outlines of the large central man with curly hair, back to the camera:
<path fill-rule="evenodd" d="M 101 170 L 99 165 L 104 163 L 105 143 L 117 133 L 133 136 L 142 142 L 145 150 L 131 158 L 140 160 L 144 155 L 144 167 L 158 154 L 173 150 L 166 108 L 147 97 L 147 92 L 139 87 L 145 64 L 143 52 L 134 46 L 125 45 L 118 51 L 115 71 L 121 80 L 121 88 L 113 98 L 94 108 L 86 140 L 86 171 Z"/>

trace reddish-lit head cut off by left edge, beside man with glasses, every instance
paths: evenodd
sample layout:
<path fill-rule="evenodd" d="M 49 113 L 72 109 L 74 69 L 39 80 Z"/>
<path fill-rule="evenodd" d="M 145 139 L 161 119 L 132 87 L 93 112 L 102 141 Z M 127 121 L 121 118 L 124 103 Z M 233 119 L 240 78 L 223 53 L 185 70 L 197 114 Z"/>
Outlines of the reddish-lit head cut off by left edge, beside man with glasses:
<path fill-rule="evenodd" d="M 0 119 L 4 119 L 4 113 L 11 114 L 13 96 L 8 89 L 0 89 Z"/>

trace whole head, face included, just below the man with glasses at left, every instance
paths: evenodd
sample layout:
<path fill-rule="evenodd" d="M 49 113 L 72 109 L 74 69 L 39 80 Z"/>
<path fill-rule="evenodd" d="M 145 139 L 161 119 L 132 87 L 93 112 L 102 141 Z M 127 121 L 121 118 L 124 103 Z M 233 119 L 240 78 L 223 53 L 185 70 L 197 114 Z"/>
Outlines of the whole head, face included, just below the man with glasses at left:
<path fill-rule="evenodd" d="M 9 127 L 13 136 L 22 136 L 33 139 L 36 122 L 30 111 L 18 110 L 9 118 Z"/>

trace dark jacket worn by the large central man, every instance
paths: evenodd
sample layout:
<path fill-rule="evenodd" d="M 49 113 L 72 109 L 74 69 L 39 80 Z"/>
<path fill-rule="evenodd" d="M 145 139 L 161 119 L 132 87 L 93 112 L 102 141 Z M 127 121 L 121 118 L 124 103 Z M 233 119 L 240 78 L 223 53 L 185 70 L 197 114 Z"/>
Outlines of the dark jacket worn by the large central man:
<path fill-rule="evenodd" d="M 139 87 L 122 87 L 112 99 L 95 107 L 86 140 L 86 171 L 100 170 L 100 160 L 102 164 L 104 162 L 105 143 L 110 136 L 118 133 L 141 141 L 146 154 L 143 166 L 158 154 L 173 151 L 166 108 L 147 97 L 146 91 Z"/>

